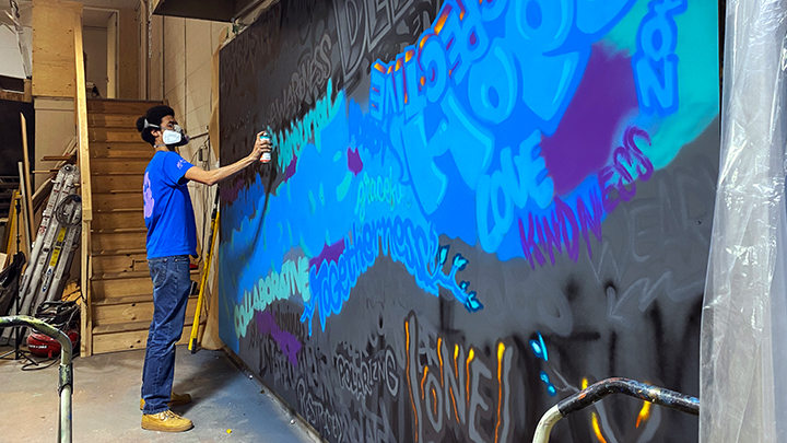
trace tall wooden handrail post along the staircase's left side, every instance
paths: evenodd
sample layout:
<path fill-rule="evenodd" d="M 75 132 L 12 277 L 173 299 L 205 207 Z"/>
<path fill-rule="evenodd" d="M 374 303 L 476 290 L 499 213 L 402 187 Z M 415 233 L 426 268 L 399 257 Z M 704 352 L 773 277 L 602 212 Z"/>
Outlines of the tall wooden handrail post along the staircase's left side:
<path fill-rule="evenodd" d="M 74 86 L 74 110 L 77 116 L 78 156 L 80 166 L 80 188 L 82 190 L 82 355 L 93 353 L 93 313 L 91 312 L 91 224 L 93 221 L 93 191 L 91 186 L 90 144 L 87 138 L 87 96 L 85 93 L 85 72 L 82 48 L 82 15 L 74 15 L 74 56 L 77 79 Z"/>

